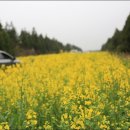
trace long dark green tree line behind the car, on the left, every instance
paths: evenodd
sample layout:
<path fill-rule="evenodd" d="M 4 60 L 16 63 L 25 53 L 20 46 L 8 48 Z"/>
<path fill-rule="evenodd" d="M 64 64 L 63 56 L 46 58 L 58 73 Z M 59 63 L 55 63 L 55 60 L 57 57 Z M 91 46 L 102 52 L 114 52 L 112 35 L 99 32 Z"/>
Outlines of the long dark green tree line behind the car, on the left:
<path fill-rule="evenodd" d="M 43 37 L 36 32 L 35 28 L 32 32 L 21 30 L 18 35 L 12 23 L 7 23 L 5 27 L 0 23 L 0 50 L 15 56 L 82 51 L 81 48 L 70 43 L 64 45 L 55 38 Z"/>

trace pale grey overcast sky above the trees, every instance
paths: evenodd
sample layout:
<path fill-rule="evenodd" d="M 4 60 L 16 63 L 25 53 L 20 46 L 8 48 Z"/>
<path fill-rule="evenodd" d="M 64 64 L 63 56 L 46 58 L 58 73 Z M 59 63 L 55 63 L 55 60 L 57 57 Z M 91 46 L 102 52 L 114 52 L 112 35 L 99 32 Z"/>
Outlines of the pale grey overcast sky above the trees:
<path fill-rule="evenodd" d="M 130 1 L 0 1 L 0 22 L 13 22 L 17 32 L 35 27 L 38 34 L 97 50 L 121 30 Z"/>

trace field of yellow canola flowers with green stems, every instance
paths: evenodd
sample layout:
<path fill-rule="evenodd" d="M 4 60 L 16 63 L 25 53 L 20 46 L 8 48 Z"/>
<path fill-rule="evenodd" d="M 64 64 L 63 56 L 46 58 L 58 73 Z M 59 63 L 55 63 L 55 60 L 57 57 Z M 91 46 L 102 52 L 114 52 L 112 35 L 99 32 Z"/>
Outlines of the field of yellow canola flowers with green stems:
<path fill-rule="evenodd" d="M 130 130 L 130 64 L 108 52 L 19 57 L 0 69 L 0 130 Z"/>

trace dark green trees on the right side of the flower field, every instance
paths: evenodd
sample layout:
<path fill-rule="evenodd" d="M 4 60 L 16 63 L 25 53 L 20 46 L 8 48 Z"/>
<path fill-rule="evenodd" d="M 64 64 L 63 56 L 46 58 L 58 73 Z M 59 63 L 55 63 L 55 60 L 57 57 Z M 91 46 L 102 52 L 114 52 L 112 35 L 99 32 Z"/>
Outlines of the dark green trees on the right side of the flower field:
<path fill-rule="evenodd" d="M 101 50 L 113 52 L 130 52 L 130 15 L 127 17 L 123 29 L 115 30 L 114 35 L 107 40 Z"/>

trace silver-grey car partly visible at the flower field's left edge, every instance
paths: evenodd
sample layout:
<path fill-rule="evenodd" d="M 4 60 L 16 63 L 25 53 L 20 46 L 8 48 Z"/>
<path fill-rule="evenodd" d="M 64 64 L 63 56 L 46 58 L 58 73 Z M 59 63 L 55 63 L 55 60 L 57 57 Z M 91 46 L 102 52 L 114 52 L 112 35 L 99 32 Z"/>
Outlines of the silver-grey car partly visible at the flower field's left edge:
<path fill-rule="evenodd" d="M 9 53 L 0 50 L 0 65 L 12 65 L 16 63 L 20 63 L 20 61 Z"/>

